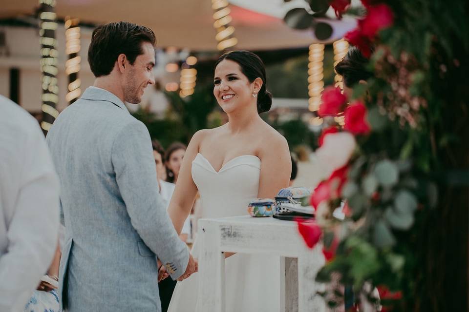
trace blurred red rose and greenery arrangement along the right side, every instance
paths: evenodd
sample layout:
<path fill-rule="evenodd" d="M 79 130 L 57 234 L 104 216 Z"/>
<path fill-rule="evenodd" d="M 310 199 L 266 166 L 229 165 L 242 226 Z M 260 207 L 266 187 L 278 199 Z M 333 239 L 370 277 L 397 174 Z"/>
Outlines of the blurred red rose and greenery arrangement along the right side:
<path fill-rule="evenodd" d="M 298 220 L 307 246 L 323 245 L 317 280 L 339 276 L 357 303 L 377 287 L 382 311 L 467 311 L 468 2 L 306 1 L 313 20 L 329 6 L 357 18 L 345 39 L 373 74 L 350 97 L 334 87 L 321 97 L 316 156 L 327 178 L 310 198 L 316 221 Z"/>

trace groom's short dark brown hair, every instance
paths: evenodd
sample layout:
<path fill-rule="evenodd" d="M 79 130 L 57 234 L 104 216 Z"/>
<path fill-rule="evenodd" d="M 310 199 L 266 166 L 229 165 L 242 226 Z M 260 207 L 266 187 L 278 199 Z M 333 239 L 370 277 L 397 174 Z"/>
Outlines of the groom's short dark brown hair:
<path fill-rule="evenodd" d="M 142 42 L 153 46 L 156 43 L 155 34 L 145 26 L 127 21 L 98 26 L 88 48 L 88 63 L 94 76 L 109 75 L 120 54 L 125 54 L 133 65 L 137 56 L 143 54 Z"/>

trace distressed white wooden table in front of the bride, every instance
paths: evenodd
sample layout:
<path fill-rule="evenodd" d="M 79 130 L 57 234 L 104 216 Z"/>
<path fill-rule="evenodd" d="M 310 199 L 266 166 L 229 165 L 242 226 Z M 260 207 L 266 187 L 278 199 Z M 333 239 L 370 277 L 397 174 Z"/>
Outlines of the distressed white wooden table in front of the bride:
<path fill-rule="evenodd" d="M 294 221 L 250 215 L 198 221 L 198 310 L 224 312 L 224 252 L 268 253 L 280 256 L 280 311 L 324 312 L 323 298 L 317 294 L 324 285 L 315 281 L 325 260 L 318 244 L 306 247 Z M 275 274 L 275 273 L 273 273 Z"/>

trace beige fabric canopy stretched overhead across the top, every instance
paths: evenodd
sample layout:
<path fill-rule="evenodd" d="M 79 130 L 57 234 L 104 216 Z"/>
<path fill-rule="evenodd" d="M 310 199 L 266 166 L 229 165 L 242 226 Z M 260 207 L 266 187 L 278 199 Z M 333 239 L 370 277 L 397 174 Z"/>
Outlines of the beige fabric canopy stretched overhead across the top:
<path fill-rule="evenodd" d="M 294 30 L 283 22 L 283 12 L 292 6 L 291 3 L 269 0 L 266 6 L 270 10 L 260 10 L 262 13 L 259 13 L 259 5 L 253 6 L 252 3 L 256 1 L 230 2 L 231 24 L 235 27 L 238 49 L 270 50 L 318 42 L 311 31 Z M 38 0 L 6 1 L 2 3 L 0 18 L 31 15 L 37 7 Z M 59 18 L 71 16 L 96 24 L 127 20 L 146 25 L 155 32 L 160 47 L 211 51 L 215 50 L 217 43 L 211 0 L 57 0 L 56 13 Z M 353 25 L 350 21 L 337 22 L 331 39 L 341 38 Z"/>

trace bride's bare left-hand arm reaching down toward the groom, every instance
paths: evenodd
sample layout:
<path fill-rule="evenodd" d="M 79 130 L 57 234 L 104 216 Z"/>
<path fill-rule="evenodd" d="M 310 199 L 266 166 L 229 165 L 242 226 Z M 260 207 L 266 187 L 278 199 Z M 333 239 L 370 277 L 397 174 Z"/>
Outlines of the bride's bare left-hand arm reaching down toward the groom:
<path fill-rule="evenodd" d="M 191 212 L 192 205 L 197 195 L 197 187 L 192 180 L 192 160 L 199 152 L 199 143 L 201 142 L 206 130 L 196 132 L 187 147 L 182 160 L 179 176 L 176 181 L 176 187 L 172 194 L 168 214 L 171 217 L 177 234 L 181 234 L 184 221 Z"/>

